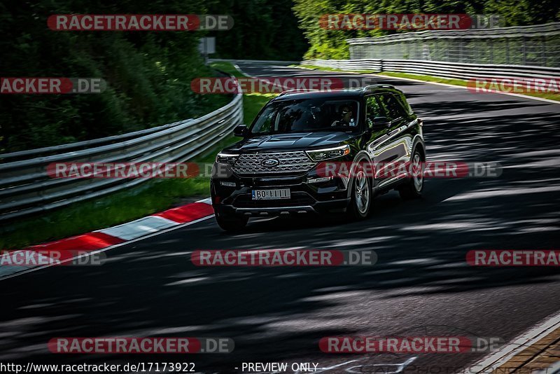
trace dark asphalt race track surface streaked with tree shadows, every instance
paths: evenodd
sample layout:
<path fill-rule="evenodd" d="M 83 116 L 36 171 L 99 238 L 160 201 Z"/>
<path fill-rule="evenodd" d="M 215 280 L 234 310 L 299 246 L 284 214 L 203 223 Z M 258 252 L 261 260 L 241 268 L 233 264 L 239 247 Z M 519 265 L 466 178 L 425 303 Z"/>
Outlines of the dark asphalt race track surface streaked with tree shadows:
<path fill-rule="evenodd" d="M 340 76 L 239 64 L 251 76 Z M 352 78 L 360 76 L 351 75 Z M 366 221 L 214 219 L 106 252 L 99 267 L 53 267 L 1 281 L 0 359 L 34 363 L 315 362 L 325 373 L 449 373 L 486 352 L 327 354 L 324 336 L 475 335 L 509 342 L 560 310 L 554 268 L 475 268 L 471 249 L 558 249 L 560 104 L 384 79 L 424 120 L 428 160 L 500 162 L 493 179 L 427 179 L 421 200 L 391 192 Z M 371 267 L 203 268 L 195 249 L 366 249 Z M 53 337 L 195 336 L 235 340 L 231 354 L 51 354 Z M 392 366 L 391 366 L 392 365 Z"/>

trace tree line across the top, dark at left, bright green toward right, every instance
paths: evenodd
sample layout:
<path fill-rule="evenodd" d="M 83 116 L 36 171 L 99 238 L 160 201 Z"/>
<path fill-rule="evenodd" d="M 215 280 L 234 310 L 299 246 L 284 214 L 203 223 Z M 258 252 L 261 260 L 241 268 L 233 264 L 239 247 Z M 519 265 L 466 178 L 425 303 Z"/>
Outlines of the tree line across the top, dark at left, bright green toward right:
<path fill-rule="evenodd" d="M 214 74 L 197 51 L 202 32 L 56 32 L 53 14 L 227 14 L 214 57 L 346 58 L 345 40 L 384 31 L 327 31 L 329 13 L 497 13 L 507 25 L 560 18 L 557 0 L 2 0 L 0 76 L 104 78 L 95 95 L 0 95 L 0 153 L 94 139 L 200 116 L 227 101 L 197 95 Z"/>

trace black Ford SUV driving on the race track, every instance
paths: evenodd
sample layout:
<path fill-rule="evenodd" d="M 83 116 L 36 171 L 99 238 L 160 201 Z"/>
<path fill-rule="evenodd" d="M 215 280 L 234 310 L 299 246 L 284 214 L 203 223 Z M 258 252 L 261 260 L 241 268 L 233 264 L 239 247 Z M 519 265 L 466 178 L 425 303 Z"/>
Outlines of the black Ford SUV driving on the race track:
<path fill-rule="evenodd" d="M 283 92 L 234 134 L 243 139 L 218 153 L 211 179 L 224 230 L 239 230 L 255 216 L 338 212 L 363 219 L 374 195 L 393 188 L 402 198 L 421 195 L 422 172 L 402 178 L 377 168 L 404 162 L 422 169 L 426 159 L 422 122 L 391 85 Z M 374 172 L 326 176 L 325 162 Z"/>

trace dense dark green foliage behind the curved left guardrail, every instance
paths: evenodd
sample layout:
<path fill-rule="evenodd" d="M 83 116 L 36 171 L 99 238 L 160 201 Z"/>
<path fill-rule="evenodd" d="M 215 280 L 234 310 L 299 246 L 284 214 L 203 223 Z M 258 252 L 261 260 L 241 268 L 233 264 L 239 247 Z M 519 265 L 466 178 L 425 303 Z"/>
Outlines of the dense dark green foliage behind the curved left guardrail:
<path fill-rule="evenodd" d="M 194 0 L 4 1 L 1 76 L 104 78 L 91 95 L 2 95 L 0 153 L 141 130 L 202 116 L 229 101 L 198 95 L 190 81 L 214 75 L 197 52 L 200 32 L 64 32 L 52 14 L 207 13 Z"/>

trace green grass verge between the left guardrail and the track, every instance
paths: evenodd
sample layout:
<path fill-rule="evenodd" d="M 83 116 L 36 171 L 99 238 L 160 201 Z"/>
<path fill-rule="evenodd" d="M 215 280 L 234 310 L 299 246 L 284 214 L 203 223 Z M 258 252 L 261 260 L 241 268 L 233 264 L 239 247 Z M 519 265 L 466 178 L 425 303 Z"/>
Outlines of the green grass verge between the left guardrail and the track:
<path fill-rule="evenodd" d="M 242 76 L 232 64 L 211 65 L 216 69 Z M 244 95 L 244 122 L 251 123 L 262 106 L 275 95 Z M 192 162 L 214 162 L 216 153 L 238 141 L 227 137 L 211 151 Z M 41 216 L 19 219 L 0 228 L 0 248 L 20 249 L 32 244 L 62 239 L 92 230 L 139 219 L 162 210 L 185 204 L 210 195 L 209 177 L 189 179 L 152 179 L 129 191 L 119 191 L 97 200 L 76 202 Z"/>

